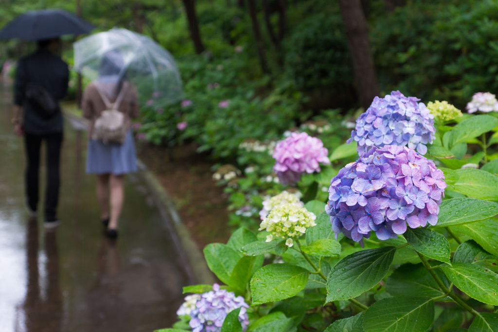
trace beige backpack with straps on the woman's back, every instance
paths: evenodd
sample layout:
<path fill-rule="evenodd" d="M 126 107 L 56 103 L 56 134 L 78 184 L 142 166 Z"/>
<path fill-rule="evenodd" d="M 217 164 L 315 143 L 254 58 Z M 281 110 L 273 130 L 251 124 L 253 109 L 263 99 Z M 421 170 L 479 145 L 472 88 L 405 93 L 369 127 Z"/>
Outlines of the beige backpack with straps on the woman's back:
<path fill-rule="evenodd" d="M 99 91 L 102 101 L 106 104 L 107 110 L 103 111 L 100 117 L 95 120 L 92 138 L 94 140 L 103 141 L 104 144 L 123 144 L 126 139 L 127 128 L 124 122 L 124 113 L 118 111 L 118 107 L 123 101 L 126 91 L 126 82 L 124 82 L 120 94 L 114 103 L 111 103 L 106 94 L 103 93 L 98 87 L 96 88 L 97 91 Z"/>

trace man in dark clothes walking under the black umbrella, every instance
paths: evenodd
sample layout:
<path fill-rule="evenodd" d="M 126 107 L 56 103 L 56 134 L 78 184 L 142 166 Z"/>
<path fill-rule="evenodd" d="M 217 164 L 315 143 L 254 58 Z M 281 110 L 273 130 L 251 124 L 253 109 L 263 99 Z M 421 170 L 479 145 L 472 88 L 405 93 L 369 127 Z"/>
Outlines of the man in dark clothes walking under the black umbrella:
<path fill-rule="evenodd" d="M 67 93 L 69 68 L 60 56 L 60 39 L 38 41 L 38 50 L 19 60 L 14 85 L 14 132 L 24 136 L 26 151 L 27 208 L 36 215 L 38 205 L 38 173 L 41 142 L 46 142 L 47 188 L 45 195 L 45 227 L 59 225 L 56 208 L 59 198 L 59 164 L 62 146 L 62 113 L 60 107 L 47 117 L 40 106 L 26 97 L 29 86 L 42 86 L 58 105 Z M 22 110 L 22 112 L 21 112 Z M 22 113 L 22 120 L 21 120 Z"/>

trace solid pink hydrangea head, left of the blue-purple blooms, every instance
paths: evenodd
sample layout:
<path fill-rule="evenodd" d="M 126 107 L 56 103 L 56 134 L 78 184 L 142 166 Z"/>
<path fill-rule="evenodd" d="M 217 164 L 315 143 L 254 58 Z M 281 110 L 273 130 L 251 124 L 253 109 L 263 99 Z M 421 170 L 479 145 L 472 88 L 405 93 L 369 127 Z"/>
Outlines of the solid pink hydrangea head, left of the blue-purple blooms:
<path fill-rule="evenodd" d="M 322 141 L 306 133 L 292 133 L 278 142 L 273 158 L 273 170 L 283 185 L 294 185 L 301 179 L 301 173 L 319 172 L 318 163 L 330 164 Z"/>

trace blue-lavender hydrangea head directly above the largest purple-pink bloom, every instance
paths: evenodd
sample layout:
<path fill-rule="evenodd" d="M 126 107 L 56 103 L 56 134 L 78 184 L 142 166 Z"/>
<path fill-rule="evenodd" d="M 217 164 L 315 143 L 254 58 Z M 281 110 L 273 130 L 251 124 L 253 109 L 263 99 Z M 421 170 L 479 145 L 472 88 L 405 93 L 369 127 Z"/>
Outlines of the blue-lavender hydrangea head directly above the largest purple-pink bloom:
<path fill-rule="evenodd" d="M 434 116 L 423 103 L 417 103 L 419 100 L 399 91 L 384 98 L 375 97 L 367 112 L 356 120 L 348 143 L 358 142 L 360 156 L 368 147 L 385 145 L 408 146 L 425 155 L 426 144 L 432 143 L 436 129 Z"/>

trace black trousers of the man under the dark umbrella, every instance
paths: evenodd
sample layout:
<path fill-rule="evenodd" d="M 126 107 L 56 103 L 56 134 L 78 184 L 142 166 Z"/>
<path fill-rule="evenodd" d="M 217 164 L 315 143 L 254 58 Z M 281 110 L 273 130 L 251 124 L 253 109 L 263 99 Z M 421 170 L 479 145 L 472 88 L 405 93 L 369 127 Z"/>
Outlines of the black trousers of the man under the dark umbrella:
<path fill-rule="evenodd" d="M 36 211 L 38 205 L 38 178 L 40 168 L 41 141 L 46 141 L 47 150 L 47 184 L 45 195 L 45 221 L 57 220 L 56 208 L 59 200 L 59 164 L 62 146 L 62 133 L 48 135 L 24 135 L 26 149 L 26 195 L 31 210 Z"/>

